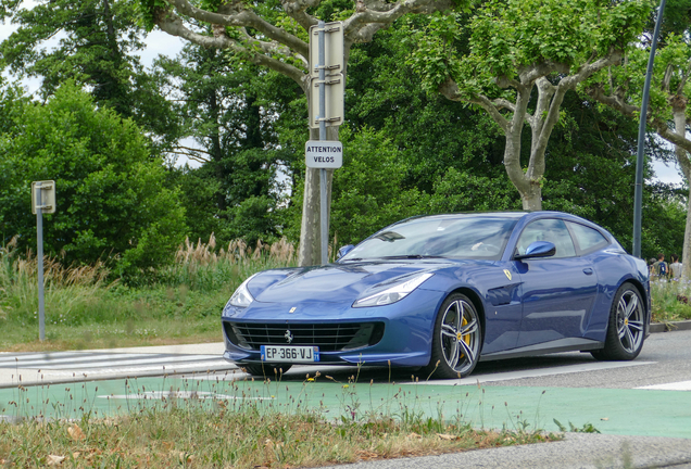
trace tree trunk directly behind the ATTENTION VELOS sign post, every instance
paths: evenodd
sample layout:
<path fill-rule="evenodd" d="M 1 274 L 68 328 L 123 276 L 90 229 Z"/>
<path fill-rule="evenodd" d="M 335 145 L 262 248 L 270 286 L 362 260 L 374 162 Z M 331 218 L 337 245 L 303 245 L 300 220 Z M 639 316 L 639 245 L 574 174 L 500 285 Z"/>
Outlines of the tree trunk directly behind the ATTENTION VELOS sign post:
<path fill-rule="evenodd" d="M 338 127 L 327 127 L 327 140 L 338 140 Z M 310 139 L 318 140 L 319 130 L 311 129 Z M 334 180 L 334 170 L 326 172 L 326 213 L 328 219 L 331 215 L 331 182 Z M 322 226 L 319 220 L 321 214 L 321 197 L 319 197 L 319 169 L 305 170 L 304 179 L 304 199 L 302 201 L 302 224 L 300 229 L 300 248 L 298 250 L 298 265 L 310 266 L 322 264 Z M 327 221 L 327 239 L 328 239 L 328 221 Z"/>

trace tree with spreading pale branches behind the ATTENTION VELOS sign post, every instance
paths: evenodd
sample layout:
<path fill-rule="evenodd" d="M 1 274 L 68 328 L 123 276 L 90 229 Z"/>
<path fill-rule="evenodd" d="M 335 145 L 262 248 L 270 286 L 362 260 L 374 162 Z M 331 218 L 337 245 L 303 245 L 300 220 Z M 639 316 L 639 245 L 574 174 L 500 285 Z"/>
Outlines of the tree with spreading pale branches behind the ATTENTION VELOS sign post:
<path fill-rule="evenodd" d="M 374 35 L 395 20 L 415 13 L 445 11 L 455 0 L 269 0 L 208 1 L 202 8 L 187 0 L 140 0 L 145 22 L 152 27 L 206 48 L 228 51 L 247 63 L 267 67 L 291 78 L 309 94 L 309 30 L 324 21 L 343 20 L 344 61 L 348 63 L 354 43 L 368 42 Z M 211 25 L 212 34 L 198 24 Z M 312 138 L 316 139 L 316 132 Z M 338 128 L 331 127 L 327 138 L 338 140 Z M 300 265 L 317 264 L 319 253 L 318 172 L 307 169 L 304 183 Z M 327 197 L 330 200 L 329 172 Z M 327 211 L 328 212 L 328 211 Z"/>

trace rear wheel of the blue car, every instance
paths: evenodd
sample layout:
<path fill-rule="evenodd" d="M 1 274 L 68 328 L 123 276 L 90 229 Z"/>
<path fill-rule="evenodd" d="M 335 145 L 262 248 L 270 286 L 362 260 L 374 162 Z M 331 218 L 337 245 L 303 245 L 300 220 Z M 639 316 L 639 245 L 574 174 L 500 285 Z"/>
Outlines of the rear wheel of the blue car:
<path fill-rule="evenodd" d="M 604 348 L 592 351 L 599 360 L 632 360 L 645 340 L 645 308 L 641 293 L 631 283 L 619 287 L 607 322 Z"/>

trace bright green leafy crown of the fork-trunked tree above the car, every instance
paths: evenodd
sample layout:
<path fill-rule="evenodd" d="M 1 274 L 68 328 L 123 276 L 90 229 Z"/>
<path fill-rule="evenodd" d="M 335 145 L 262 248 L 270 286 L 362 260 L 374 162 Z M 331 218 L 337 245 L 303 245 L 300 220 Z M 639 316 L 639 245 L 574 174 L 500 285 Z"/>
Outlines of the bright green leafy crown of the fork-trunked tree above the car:
<path fill-rule="evenodd" d="M 650 2 L 600 0 L 492 0 L 466 26 L 463 16 L 435 16 L 417 28 L 419 45 L 409 63 L 428 90 L 448 77 L 468 99 L 500 93 L 495 79 L 515 78 L 522 67 L 563 64 L 571 71 L 611 49 L 624 50 L 643 29 Z M 458 48 L 467 36 L 467 48 Z"/>

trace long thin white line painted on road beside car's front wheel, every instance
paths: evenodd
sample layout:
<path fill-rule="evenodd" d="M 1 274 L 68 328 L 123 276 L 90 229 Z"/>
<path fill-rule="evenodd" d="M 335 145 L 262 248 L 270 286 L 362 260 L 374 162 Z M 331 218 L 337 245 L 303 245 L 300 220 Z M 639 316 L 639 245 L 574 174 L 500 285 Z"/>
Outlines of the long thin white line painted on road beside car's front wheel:
<path fill-rule="evenodd" d="M 599 371 L 604 369 L 612 368 L 624 368 L 624 367 L 632 367 L 632 366 L 642 366 L 642 365 L 654 365 L 657 362 L 594 362 L 588 364 L 579 364 L 579 365 L 567 365 L 562 367 L 552 367 L 552 368 L 539 368 L 539 369 L 527 369 L 520 371 L 507 371 L 507 372 L 499 372 L 491 375 L 472 375 L 468 378 L 462 378 L 456 380 L 429 380 L 429 381 L 419 381 L 416 383 L 401 383 L 401 384 L 435 384 L 435 385 L 469 385 L 477 384 L 483 382 L 494 382 L 494 381 L 507 381 L 520 378 L 541 378 L 545 376 L 553 375 L 566 375 L 573 372 L 582 372 L 582 371 Z"/>

